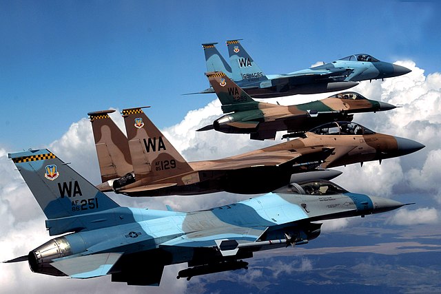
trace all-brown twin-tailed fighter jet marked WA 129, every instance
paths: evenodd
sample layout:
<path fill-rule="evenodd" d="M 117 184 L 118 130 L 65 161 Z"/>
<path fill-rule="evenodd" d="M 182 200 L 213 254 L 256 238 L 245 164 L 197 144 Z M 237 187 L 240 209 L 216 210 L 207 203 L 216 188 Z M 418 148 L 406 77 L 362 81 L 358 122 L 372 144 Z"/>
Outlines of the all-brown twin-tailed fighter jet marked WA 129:
<path fill-rule="evenodd" d="M 356 123 L 331 123 L 301 138 L 218 160 L 187 162 L 140 108 L 124 109 L 127 138 L 107 113 L 90 112 L 99 158 L 101 191 L 127 196 L 195 195 L 228 191 L 266 193 L 299 180 L 334 178 L 316 170 L 402 156 L 424 147 L 376 134 Z M 130 156 L 127 156 L 127 149 Z M 308 172 L 309 171 L 309 172 Z"/>

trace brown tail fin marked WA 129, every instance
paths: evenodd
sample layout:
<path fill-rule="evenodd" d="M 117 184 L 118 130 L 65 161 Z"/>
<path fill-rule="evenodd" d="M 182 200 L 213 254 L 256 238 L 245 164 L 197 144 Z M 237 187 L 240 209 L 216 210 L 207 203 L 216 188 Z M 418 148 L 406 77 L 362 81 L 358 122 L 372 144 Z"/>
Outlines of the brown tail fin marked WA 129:
<path fill-rule="evenodd" d="M 142 108 L 123 109 L 136 180 L 151 182 L 193 171 Z"/>

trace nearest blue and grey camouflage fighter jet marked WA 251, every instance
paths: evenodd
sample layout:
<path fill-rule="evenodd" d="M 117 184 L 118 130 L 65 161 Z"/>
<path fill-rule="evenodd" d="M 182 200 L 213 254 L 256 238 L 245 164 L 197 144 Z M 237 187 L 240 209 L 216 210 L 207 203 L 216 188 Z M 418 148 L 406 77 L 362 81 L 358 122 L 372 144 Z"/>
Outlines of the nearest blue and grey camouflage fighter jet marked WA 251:
<path fill-rule="evenodd" d="M 49 234 L 65 235 L 7 262 L 28 261 L 34 273 L 77 279 L 112 275 L 112 282 L 159 286 L 169 264 L 187 262 L 177 275 L 187 280 L 247 269 L 243 259 L 255 251 L 317 238 L 318 221 L 406 205 L 315 181 L 191 213 L 120 207 L 48 149 L 9 158 L 48 218 Z"/>

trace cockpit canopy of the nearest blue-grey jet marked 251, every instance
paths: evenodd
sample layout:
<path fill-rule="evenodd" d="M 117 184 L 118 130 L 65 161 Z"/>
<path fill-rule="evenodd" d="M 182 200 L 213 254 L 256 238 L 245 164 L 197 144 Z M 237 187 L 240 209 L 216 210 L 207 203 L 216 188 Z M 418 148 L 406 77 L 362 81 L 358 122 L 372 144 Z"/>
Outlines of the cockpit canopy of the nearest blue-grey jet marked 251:
<path fill-rule="evenodd" d="M 308 182 L 300 182 L 298 184 L 292 183 L 283 188 L 280 188 L 274 193 L 289 193 L 302 195 L 334 195 L 347 193 L 347 190 L 329 182 L 328 180 L 314 180 Z"/>

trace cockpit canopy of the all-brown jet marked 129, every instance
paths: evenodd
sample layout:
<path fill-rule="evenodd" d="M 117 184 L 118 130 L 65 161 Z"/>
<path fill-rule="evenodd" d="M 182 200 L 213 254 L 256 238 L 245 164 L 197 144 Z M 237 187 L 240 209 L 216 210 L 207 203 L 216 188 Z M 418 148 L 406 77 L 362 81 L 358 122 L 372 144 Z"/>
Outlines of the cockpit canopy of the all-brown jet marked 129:
<path fill-rule="evenodd" d="M 371 131 L 367 127 L 363 127 L 358 123 L 350 121 L 334 121 L 332 123 L 325 123 L 311 129 L 309 132 L 318 135 L 371 135 L 375 132 Z"/>

